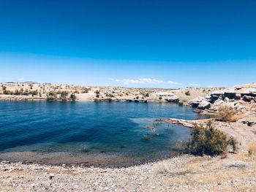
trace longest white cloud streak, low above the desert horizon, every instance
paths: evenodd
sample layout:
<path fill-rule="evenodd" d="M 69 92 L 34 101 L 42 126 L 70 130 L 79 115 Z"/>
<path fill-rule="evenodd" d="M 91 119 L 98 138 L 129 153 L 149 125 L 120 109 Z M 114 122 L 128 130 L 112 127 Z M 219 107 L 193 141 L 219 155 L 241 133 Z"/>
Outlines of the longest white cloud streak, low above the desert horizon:
<path fill-rule="evenodd" d="M 136 80 L 132 79 L 123 79 L 123 80 L 116 80 L 111 78 L 110 80 L 114 82 L 121 82 L 124 85 L 129 85 L 129 84 L 173 84 L 173 85 L 183 85 L 180 82 L 173 82 L 173 81 L 167 81 L 165 82 L 164 80 L 156 80 L 156 79 L 151 79 L 151 78 L 139 78 Z"/>

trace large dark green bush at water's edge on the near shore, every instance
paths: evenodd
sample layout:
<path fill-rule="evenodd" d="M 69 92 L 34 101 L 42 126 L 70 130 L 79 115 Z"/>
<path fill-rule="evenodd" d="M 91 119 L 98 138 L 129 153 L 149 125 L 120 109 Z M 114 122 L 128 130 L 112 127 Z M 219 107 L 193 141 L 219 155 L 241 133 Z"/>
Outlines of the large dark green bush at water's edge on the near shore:
<path fill-rule="evenodd" d="M 236 140 L 214 128 L 211 121 L 206 126 L 195 124 L 191 128 L 191 137 L 187 142 L 187 150 L 193 155 L 221 155 L 229 146 L 236 151 Z"/>

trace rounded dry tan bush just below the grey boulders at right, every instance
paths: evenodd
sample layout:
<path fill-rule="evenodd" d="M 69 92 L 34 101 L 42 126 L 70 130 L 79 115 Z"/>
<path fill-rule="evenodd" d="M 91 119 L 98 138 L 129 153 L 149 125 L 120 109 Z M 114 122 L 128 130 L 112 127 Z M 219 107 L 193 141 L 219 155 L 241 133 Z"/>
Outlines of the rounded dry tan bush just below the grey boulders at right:
<path fill-rule="evenodd" d="M 236 121 L 236 110 L 226 104 L 219 106 L 217 119 L 222 121 Z"/>

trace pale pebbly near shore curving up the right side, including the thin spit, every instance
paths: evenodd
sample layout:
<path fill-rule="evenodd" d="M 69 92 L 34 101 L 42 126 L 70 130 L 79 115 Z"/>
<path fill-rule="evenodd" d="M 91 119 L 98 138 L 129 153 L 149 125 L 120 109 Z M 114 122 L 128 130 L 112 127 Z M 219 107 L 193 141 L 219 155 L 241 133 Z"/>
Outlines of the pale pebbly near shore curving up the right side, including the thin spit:
<path fill-rule="evenodd" d="M 241 89 L 238 89 L 240 91 Z M 182 93 L 182 91 L 180 90 Z M 194 97 L 197 95 L 193 93 Z M 235 91 L 236 93 L 236 91 Z M 182 93 L 184 94 L 184 93 Z M 214 93 L 215 95 L 222 93 Z M 218 95 L 218 96 L 219 96 Z M 205 98 L 208 99 L 208 98 Z M 40 165 L 0 161 L 2 191 L 255 191 L 256 155 L 249 145 L 256 143 L 255 102 L 220 99 L 211 110 L 200 114 L 216 114 L 218 102 L 238 108 L 244 116 L 236 122 L 214 121 L 214 127 L 238 141 L 237 153 L 219 156 L 178 155 L 164 160 L 129 167 L 95 167 L 80 165 Z M 227 101 L 225 101 L 227 100 Z M 93 101 L 94 102 L 94 101 Z M 199 104 L 201 101 L 194 101 Z M 187 102 L 186 102 L 187 104 Z M 190 105 L 189 105 L 190 106 Z M 165 119 L 191 127 L 208 119 Z"/>

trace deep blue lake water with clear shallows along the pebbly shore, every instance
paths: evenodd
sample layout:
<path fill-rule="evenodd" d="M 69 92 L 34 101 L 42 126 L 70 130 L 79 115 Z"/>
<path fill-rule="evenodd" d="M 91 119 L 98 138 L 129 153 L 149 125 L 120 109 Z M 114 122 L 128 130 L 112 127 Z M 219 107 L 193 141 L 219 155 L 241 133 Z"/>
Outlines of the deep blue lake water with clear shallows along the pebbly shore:
<path fill-rule="evenodd" d="M 188 128 L 167 123 L 153 134 L 146 126 L 156 118 L 200 116 L 168 103 L 1 101 L 0 158 L 46 164 L 156 158 L 189 138 Z"/>

